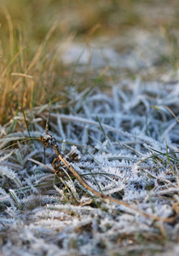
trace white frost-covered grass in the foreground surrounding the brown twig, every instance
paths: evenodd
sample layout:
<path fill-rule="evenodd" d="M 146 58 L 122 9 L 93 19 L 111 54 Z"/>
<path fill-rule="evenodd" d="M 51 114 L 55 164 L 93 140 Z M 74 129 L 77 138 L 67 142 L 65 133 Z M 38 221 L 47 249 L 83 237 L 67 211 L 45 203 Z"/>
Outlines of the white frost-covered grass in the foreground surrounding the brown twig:
<path fill-rule="evenodd" d="M 179 117 L 178 82 L 125 80 L 113 86 L 111 96 L 97 88 L 81 94 L 71 88 L 71 96 L 69 113 L 52 106 L 50 129 L 60 141 L 90 147 L 72 146 L 78 154 L 74 169 L 105 195 L 175 218 L 171 223 L 154 221 L 101 202 L 75 179 L 54 180 L 52 172 L 28 160 L 43 162 L 43 145 L 37 140 L 19 143 L 8 159 L 12 149 L 1 151 L 1 255 L 177 255 L 179 132 L 167 108 Z M 37 108 L 33 114 L 31 137 L 38 138 L 44 132 L 38 122 L 47 119 L 48 111 Z M 3 136 L 1 147 L 20 137 L 28 132 Z M 59 145 L 63 152 L 70 149 L 69 144 Z M 47 148 L 50 168 L 54 157 Z"/>

